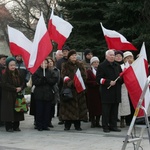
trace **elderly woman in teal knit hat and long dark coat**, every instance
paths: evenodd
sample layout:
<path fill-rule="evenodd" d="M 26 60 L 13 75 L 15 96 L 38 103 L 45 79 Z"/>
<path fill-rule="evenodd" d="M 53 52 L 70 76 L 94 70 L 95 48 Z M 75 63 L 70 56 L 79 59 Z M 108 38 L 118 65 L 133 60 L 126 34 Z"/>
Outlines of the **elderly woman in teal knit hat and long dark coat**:
<path fill-rule="evenodd" d="M 15 102 L 17 93 L 20 93 L 25 84 L 16 69 L 16 60 L 14 57 L 7 57 L 6 71 L 2 75 L 2 103 L 1 120 L 5 122 L 7 132 L 21 131 L 20 121 L 24 120 L 24 113 L 15 111 Z"/>

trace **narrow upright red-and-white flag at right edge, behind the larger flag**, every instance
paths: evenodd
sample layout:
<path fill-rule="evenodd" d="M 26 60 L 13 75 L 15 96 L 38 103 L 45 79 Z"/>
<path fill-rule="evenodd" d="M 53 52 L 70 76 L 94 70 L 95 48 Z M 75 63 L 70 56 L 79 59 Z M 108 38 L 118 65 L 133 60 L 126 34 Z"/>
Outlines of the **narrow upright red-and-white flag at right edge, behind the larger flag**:
<path fill-rule="evenodd" d="M 146 55 L 146 49 L 145 49 L 145 42 L 143 42 L 143 44 L 142 44 L 139 56 L 143 57 L 143 59 L 144 59 L 146 74 L 148 76 L 149 71 L 148 71 L 148 61 L 147 61 L 147 55 Z"/>

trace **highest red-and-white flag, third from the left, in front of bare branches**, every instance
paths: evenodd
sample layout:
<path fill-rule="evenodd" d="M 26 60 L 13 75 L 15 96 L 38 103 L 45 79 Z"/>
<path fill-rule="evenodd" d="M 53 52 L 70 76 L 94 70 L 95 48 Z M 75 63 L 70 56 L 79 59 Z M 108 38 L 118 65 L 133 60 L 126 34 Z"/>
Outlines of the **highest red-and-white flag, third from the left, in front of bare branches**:
<path fill-rule="evenodd" d="M 73 26 L 69 22 L 63 20 L 58 16 L 55 16 L 52 9 L 52 13 L 48 23 L 48 32 L 51 40 L 55 41 L 58 44 L 57 49 L 62 49 L 62 46 L 72 32 L 72 28 Z"/>

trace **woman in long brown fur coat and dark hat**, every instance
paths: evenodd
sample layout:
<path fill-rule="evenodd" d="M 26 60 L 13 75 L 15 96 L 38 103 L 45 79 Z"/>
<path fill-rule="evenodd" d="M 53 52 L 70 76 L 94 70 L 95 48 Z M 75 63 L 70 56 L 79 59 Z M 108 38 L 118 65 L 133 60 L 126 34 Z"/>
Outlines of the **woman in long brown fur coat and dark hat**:
<path fill-rule="evenodd" d="M 74 123 L 75 129 L 81 131 L 80 121 L 87 120 L 87 108 L 86 108 L 86 99 L 85 92 L 82 91 L 78 93 L 74 86 L 74 76 L 77 69 L 80 70 L 83 80 L 86 80 L 86 71 L 82 63 L 77 61 L 76 51 L 71 50 L 68 53 L 68 61 L 63 64 L 61 76 L 67 80 L 64 81 L 63 86 L 69 87 L 72 89 L 73 99 L 69 102 L 61 101 L 61 112 L 60 115 L 65 121 L 65 129 L 70 130 L 71 124 Z"/>

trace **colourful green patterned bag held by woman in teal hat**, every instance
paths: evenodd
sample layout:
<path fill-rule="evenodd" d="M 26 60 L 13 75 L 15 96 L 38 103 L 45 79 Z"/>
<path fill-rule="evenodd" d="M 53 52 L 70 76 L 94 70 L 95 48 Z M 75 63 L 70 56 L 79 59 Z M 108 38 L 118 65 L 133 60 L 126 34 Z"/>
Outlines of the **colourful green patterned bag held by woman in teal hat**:
<path fill-rule="evenodd" d="M 16 112 L 28 111 L 27 103 L 22 93 L 17 93 L 16 102 L 15 102 L 15 111 Z"/>

